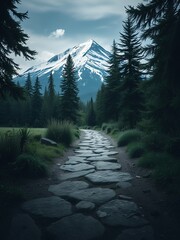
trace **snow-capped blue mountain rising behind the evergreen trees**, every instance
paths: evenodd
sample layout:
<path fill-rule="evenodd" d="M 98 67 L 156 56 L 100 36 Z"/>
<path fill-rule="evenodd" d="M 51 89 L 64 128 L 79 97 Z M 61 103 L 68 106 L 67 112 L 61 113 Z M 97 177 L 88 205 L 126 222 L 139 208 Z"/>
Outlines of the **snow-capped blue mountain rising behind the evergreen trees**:
<path fill-rule="evenodd" d="M 16 81 L 23 86 L 28 73 L 30 73 L 32 84 L 34 84 L 38 76 L 42 91 L 44 91 L 48 84 L 49 75 L 52 72 L 55 89 L 57 92 L 60 92 L 62 70 L 69 54 L 72 56 L 76 68 L 81 100 L 86 101 L 91 97 L 95 97 L 107 74 L 107 62 L 110 53 L 94 40 L 89 40 L 70 48 L 63 53 L 55 55 L 47 62 L 29 68 L 21 76 L 17 77 Z"/>

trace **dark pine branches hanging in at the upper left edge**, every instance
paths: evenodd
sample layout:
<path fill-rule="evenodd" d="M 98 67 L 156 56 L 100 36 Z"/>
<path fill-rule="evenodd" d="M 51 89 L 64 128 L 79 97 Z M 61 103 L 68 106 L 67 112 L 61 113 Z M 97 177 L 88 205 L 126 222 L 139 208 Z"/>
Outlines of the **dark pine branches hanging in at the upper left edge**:
<path fill-rule="evenodd" d="M 14 98 L 23 96 L 23 89 L 12 81 L 19 69 L 12 54 L 23 55 L 27 60 L 33 59 L 36 54 L 26 46 L 28 35 L 22 30 L 20 23 L 28 16 L 27 12 L 17 11 L 16 4 L 19 3 L 20 0 L 6 0 L 0 4 L 0 98 L 5 97 L 6 92 Z"/>

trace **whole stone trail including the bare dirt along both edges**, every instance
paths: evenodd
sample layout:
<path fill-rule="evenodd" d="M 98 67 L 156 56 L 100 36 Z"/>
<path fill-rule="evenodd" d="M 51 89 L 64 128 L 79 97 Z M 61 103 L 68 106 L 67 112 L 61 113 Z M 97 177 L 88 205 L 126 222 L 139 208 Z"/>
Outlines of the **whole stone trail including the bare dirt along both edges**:
<path fill-rule="evenodd" d="M 136 161 L 109 136 L 81 130 L 48 179 L 24 185 L 8 240 L 178 240 L 175 202 Z"/>

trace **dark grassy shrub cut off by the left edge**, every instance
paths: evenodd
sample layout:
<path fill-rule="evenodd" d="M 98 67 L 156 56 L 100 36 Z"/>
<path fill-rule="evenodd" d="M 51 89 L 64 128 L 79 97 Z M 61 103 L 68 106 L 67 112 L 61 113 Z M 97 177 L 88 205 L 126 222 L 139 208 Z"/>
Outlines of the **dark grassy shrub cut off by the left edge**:
<path fill-rule="evenodd" d="M 21 137 L 17 131 L 11 130 L 0 135 L 0 160 L 13 162 L 21 153 Z"/>

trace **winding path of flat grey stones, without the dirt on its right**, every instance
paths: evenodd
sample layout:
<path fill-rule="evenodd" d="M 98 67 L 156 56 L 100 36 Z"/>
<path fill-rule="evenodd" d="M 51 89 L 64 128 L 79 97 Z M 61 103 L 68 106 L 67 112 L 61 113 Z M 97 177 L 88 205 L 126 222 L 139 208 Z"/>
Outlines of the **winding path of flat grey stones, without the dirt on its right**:
<path fill-rule="evenodd" d="M 99 132 L 82 131 L 84 138 L 75 155 L 60 166 L 59 184 L 49 186 L 52 196 L 22 204 L 24 213 L 18 216 L 22 224 L 17 230 L 14 220 L 10 240 L 16 239 L 14 229 L 19 240 L 154 239 L 138 203 L 120 195 L 121 187 L 131 186 L 132 180 L 129 173 L 121 171 L 123 159 L 118 159 L 114 146 Z M 43 234 L 35 224 L 37 218 L 48 223 Z"/>

